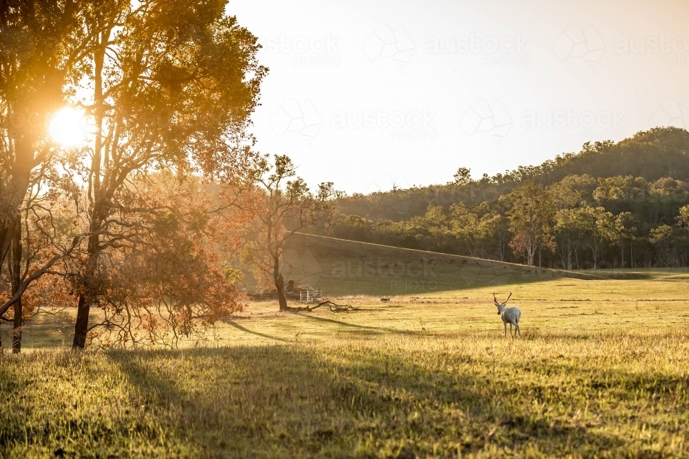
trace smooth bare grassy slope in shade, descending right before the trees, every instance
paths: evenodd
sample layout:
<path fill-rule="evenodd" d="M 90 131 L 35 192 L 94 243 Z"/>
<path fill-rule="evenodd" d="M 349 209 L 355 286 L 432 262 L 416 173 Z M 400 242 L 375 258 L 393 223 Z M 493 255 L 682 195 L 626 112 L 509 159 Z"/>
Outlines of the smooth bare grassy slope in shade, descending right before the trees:
<path fill-rule="evenodd" d="M 605 278 L 308 234 L 289 239 L 284 260 L 287 281 L 309 284 L 327 295 L 429 295 L 557 277 Z M 254 291 L 256 282 L 245 274 L 247 290 Z"/>

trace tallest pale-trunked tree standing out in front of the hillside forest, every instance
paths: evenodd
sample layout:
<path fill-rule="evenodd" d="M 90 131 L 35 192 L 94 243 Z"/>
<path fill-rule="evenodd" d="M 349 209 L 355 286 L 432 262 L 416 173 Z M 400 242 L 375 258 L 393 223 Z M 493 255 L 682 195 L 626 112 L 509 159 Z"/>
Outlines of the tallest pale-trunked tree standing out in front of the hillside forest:
<path fill-rule="evenodd" d="M 526 258 L 533 266 L 536 250 L 555 250 L 552 224 L 555 218 L 555 202 L 542 185 L 526 182 L 510 194 L 512 209 L 508 211 L 510 231 L 514 237 L 510 247 Z"/>

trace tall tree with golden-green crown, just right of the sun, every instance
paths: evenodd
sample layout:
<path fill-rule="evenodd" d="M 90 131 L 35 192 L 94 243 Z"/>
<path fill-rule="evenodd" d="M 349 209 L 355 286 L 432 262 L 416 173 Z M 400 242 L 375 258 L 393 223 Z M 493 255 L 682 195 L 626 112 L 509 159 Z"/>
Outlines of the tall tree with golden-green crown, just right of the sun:
<path fill-rule="evenodd" d="M 71 101 L 85 110 L 92 137 L 70 166 L 74 182 L 86 184 L 90 236 L 74 348 L 84 347 L 102 293 L 103 253 L 133 243 L 119 217 L 127 181 L 159 167 L 232 181 L 251 162 L 249 115 L 267 69 L 256 61 L 256 37 L 225 15 L 226 3 L 94 2 L 81 16 L 89 52 L 72 67 Z"/>

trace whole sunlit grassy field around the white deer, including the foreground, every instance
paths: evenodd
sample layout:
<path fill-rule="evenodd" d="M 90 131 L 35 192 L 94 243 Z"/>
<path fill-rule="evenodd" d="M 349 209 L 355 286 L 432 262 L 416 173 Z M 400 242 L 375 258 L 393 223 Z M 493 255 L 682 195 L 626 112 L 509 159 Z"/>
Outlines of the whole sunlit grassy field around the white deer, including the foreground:
<path fill-rule="evenodd" d="M 689 456 L 689 274 L 438 273 L 446 288 L 389 303 L 384 277 L 319 279 L 359 310 L 256 301 L 175 351 L 73 354 L 67 318 L 41 319 L 0 360 L 0 457 Z M 493 291 L 513 292 L 523 339 Z"/>

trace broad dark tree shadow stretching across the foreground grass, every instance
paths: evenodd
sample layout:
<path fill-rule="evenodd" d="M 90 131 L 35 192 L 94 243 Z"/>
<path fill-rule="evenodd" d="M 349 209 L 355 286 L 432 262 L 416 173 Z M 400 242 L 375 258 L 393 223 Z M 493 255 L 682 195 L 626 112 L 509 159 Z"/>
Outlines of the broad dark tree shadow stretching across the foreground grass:
<path fill-rule="evenodd" d="M 437 447 L 455 454 L 525 442 L 559 455 L 570 440 L 589 453 L 624 447 L 615 436 L 531 412 L 531 401 L 510 403 L 520 395 L 494 375 L 371 349 L 278 345 L 108 357 L 167 435 L 210 456 L 411 458 Z M 537 385 L 534 400 L 542 403 L 545 391 Z"/>

